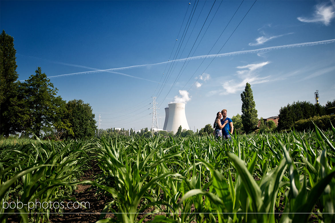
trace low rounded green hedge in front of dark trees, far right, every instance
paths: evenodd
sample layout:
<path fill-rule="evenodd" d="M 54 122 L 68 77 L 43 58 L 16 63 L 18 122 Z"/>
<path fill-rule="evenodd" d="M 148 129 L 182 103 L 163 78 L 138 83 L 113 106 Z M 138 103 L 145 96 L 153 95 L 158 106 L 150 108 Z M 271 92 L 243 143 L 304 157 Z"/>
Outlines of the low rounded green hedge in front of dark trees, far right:
<path fill-rule="evenodd" d="M 330 129 L 331 123 L 335 126 L 335 115 L 314 116 L 308 119 L 301 119 L 294 123 L 294 129 L 304 131 L 314 128 L 313 122 L 322 130 Z"/>

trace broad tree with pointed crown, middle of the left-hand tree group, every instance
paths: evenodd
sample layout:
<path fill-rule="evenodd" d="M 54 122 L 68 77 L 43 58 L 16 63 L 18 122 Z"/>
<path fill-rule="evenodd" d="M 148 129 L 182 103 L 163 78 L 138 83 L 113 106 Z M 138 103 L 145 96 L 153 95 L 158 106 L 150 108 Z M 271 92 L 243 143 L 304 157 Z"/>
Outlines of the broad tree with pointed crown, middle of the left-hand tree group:
<path fill-rule="evenodd" d="M 53 124 L 56 121 L 56 110 L 63 101 L 57 96 L 58 89 L 50 82 L 40 67 L 31 75 L 28 80 L 22 83 L 25 91 L 25 102 L 29 109 L 29 119 L 25 123 L 25 130 L 40 136 L 53 131 Z"/>

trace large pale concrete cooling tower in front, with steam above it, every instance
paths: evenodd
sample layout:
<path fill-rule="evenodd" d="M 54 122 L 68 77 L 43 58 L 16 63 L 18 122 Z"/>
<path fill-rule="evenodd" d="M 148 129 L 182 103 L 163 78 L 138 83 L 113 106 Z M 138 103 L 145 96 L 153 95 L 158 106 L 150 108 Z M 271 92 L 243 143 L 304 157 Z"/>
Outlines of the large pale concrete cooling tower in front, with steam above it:
<path fill-rule="evenodd" d="M 166 115 L 165 115 L 165 121 L 166 121 Z M 185 103 L 171 103 L 169 104 L 168 119 L 165 130 L 171 130 L 176 134 L 179 126 L 182 126 L 182 129 L 187 130 L 190 129 L 185 115 Z"/>

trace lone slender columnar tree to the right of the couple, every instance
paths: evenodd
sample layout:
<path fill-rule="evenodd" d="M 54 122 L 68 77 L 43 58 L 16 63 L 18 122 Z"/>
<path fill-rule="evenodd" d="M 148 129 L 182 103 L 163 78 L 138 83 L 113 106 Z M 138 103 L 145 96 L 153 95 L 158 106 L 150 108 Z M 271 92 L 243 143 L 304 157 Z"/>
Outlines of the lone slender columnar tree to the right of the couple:
<path fill-rule="evenodd" d="M 246 84 L 244 91 L 241 94 L 242 100 L 242 125 L 246 133 L 256 128 L 258 118 L 256 103 L 249 83 Z"/>

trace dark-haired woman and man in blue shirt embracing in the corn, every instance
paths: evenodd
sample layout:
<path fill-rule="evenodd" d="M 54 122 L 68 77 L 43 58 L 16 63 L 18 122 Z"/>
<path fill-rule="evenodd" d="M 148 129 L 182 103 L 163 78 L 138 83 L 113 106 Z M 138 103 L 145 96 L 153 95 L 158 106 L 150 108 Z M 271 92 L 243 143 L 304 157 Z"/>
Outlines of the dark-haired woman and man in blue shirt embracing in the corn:
<path fill-rule="evenodd" d="M 222 109 L 221 112 L 216 113 L 213 128 L 213 133 L 216 138 L 223 137 L 224 139 L 231 139 L 229 132 L 232 134 L 234 127 L 231 119 L 227 118 L 227 109 Z"/>

